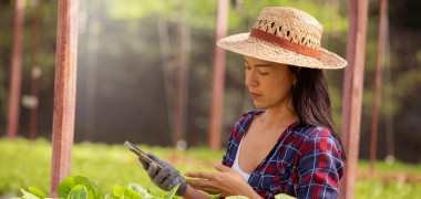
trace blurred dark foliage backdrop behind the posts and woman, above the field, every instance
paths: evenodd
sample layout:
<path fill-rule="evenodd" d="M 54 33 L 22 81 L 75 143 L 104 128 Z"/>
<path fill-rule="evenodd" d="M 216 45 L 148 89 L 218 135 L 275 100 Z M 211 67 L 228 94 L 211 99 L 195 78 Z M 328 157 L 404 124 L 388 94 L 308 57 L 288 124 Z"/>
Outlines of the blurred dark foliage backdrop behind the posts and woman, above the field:
<path fill-rule="evenodd" d="M 22 94 L 30 93 L 32 24 L 34 2 L 27 1 Z M 58 1 L 41 3 L 41 45 L 39 134 L 51 138 L 53 78 Z M 177 25 L 188 29 L 187 54 L 187 121 L 184 134 L 188 146 L 207 144 L 209 104 L 212 96 L 213 51 L 215 34 L 215 0 L 90 0 L 80 3 L 80 41 L 76 94 L 75 142 L 116 143 L 131 137 L 151 145 L 171 145 L 171 106 L 164 92 L 164 62 L 174 62 L 177 50 Z M 237 3 L 242 2 L 242 3 Z M 404 161 L 421 159 L 421 40 L 420 2 L 389 1 L 389 39 L 382 81 L 379 121 L 378 158 L 386 156 L 384 132 L 392 128 L 396 156 Z M 0 135 L 4 135 L 8 111 L 9 72 L 12 44 L 13 0 L 0 1 Z M 346 54 L 348 1 L 340 0 L 243 0 L 230 1 L 229 34 L 248 32 L 264 7 L 294 7 L 312 14 L 324 25 L 322 46 L 342 57 Z M 373 73 L 377 55 L 378 0 L 370 1 L 366 74 L 362 105 L 360 157 L 368 158 Z M 184 14 L 183 11 L 184 10 Z M 163 61 L 157 36 L 157 23 L 165 22 L 168 32 L 168 60 Z M 386 48 L 388 49 L 388 48 Z M 85 96 L 96 63 L 95 118 L 90 119 Z M 226 88 L 224 95 L 223 143 L 235 121 L 254 106 L 244 88 L 242 57 L 227 54 Z M 173 71 L 172 71 L 173 72 Z M 326 71 L 332 101 L 333 119 L 340 129 L 343 71 Z M 174 81 L 174 74 L 170 76 Z M 154 91 L 154 92 L 150 92 Z M 388 119 L 387 115 L 392 118 Z M 29 109 L 21 108 L 21 136 L 28 136 Z M 94 129 L 86 126 L 95 126 Z M 391 126 L 390 126 L 391 125 Z M 153 132 L 154 134 L 150 134 Z M 93 135 L 93 136 L 88 136 Z"/>

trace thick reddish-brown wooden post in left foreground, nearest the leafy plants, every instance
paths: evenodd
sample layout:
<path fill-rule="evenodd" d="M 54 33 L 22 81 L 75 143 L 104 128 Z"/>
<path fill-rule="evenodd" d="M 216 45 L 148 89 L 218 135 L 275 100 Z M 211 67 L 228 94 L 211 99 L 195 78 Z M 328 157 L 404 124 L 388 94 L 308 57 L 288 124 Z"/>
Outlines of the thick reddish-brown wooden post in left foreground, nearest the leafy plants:
<path fill-rule="evenodd" d="M 52 198 L 57 188 L 70 175 L 74 134 L 74 107 L 78 64 L 79 0 L 60 0 L 55 52 L 54 113 L 52 133 Z"/>

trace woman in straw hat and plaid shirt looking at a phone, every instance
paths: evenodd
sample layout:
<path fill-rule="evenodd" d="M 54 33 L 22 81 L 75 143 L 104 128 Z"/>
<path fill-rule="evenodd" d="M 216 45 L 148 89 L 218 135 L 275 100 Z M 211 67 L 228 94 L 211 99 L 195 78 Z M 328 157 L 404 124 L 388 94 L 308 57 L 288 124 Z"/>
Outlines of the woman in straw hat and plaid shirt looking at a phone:
<path fill-rule="evenodd" d="M 320 69 L 341 69 L 347 62 L 320 48 L 322 27 L 291 8 L 265 8 L 250 33 L 217 44 L 244 55 L 246 86 L 259 111 L 244 114 L 230 134 L 217 172 L 187 172 L 184 179 L 171 164 L 142 161 L 164 190 L 181 184 L 177 196 L 205 193 L 274 198 L 337 198 L 345 153 L 330 113 L 327 82 Z"/>

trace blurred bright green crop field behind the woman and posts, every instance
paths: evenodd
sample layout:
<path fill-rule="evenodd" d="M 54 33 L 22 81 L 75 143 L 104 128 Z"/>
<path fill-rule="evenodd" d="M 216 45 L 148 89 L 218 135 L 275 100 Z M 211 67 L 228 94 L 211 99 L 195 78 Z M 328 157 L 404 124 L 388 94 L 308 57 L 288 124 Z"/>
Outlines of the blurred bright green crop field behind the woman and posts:
<path fill-rule="evenodd" d="M 212 165 L 220 163 L 224 151 L 207 148 L 174 150 L 165 147 L 138 145 L 173 163 L 182 174 L 193 170 L 214 171 Z M 30 143 L 19 138 L 10 143 L 0 139 L 0 196 L 21 195 L 21 188 L 37 187 L 49 192 L 51 143 L 38 139 Z M 147 178 L 135 156 L 123 144 L 105 145 L 82 143 L 73 147 L 72 175 L 92 179 L 101 190 L 112 190 L 115 185 L 137 184 L 155 196 L 165 196 Z M 368 163 L 359 164 L 356 187 L 357 198 L 421 198 L 421 165 L 379 161 L 376 175 L 368 175 Z"/>

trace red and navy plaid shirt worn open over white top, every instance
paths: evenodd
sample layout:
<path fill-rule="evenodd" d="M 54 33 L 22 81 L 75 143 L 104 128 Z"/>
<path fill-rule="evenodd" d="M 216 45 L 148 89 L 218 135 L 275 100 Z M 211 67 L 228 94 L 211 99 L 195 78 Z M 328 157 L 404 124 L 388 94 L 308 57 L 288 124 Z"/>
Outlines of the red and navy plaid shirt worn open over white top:
<path fill-rule="evenodd" d="M 229 136 L 223 165 L 232 167 L 238 145 L 255 115 L 244 114 Z M 301 198 L 338 198 L 338 182 L 343 175 L 340 145 L 322 127 L 308 126 L 299 119 L 288 126 L 268 156 L 251 172 L 248 184 L 264 198 L 287 193 Z"/>

